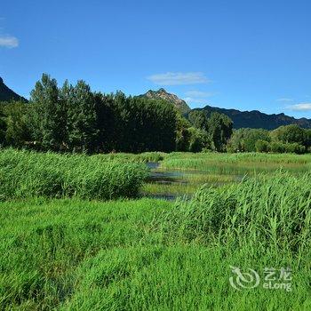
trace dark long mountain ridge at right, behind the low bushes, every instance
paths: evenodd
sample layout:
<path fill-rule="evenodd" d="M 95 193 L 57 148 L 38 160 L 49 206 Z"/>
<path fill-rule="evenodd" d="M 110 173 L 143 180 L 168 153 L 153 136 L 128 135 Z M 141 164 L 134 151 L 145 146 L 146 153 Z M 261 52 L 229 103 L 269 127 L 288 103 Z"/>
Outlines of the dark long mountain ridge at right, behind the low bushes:
<path fill-rule="evenodd" d="M 281 125 L 298 124 L 300 127 L 310 129 L 311 120 L 307 118 L 295 119 L 292 116 L 284 114 L 267 115 L 258 110 L 239 111 L 235 109 L 215 108 L 206 106 L 204 108 L 196 108 L 202 110 L 206 116 L 210 116 L 212 112 L 219 112 L 227 115 L 234 123 L 234 128 L 250 127 L 253 129 L 274 130 Z"/>

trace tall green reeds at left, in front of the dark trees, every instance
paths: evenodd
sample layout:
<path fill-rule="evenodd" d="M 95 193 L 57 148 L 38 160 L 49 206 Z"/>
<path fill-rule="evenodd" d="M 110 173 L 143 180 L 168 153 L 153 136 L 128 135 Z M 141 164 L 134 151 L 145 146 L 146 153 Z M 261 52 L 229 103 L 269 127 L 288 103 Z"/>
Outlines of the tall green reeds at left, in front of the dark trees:
<path fill-rule="evenodd" d="M 100 156 L 0 153 L 0 198 L 33 196 L 108 200 L 138 195 L 147 170 L 139 163 L 104 161 Z"/>

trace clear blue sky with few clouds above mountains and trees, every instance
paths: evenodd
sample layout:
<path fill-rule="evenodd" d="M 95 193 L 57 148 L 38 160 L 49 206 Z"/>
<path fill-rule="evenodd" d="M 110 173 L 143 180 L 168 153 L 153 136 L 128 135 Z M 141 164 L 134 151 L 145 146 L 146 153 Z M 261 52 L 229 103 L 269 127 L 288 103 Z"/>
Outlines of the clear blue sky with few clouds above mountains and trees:
<path fill-rule="evenodd" d="M 0 6 L 0 76 L 28 97 L 60 84 L 190 107 L 311 117 L 311 1 L 14 1 Z"/>

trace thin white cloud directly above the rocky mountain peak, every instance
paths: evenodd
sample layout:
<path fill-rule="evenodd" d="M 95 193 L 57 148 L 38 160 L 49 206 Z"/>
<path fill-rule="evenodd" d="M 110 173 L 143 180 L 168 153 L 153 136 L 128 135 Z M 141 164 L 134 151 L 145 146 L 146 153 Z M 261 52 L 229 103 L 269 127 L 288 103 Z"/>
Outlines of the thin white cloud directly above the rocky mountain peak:
<path fill-rule="evenodd" d="M 210 82 L 202 72 L 167 72 L 148 76 L 148 80 L 158 85 L 205 84 Z"/>

